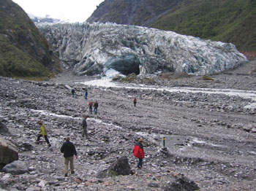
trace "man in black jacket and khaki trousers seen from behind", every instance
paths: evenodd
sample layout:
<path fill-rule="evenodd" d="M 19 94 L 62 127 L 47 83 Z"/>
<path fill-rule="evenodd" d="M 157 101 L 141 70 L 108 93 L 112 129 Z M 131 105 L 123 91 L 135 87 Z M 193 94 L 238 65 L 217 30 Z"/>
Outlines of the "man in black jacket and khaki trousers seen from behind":
<path fill-rule="evenodd" d="M 78 154 L 75 149 L 75 145 L 70 142 L 69 136 L 66 137 L 66 141 L 64 144 L 61 146 L 61 152 L 64 153 L 64 164 L 65 164 L 65 169 L 64 169 L 64 174 L 67 176 L 67 172 L 69 169 L 69 163 L 70 163 L 70 171 L 71 174 L 75 174 L 75 167 L 74 167 L 74 155 L 76 159 L 78 159 Z"/>

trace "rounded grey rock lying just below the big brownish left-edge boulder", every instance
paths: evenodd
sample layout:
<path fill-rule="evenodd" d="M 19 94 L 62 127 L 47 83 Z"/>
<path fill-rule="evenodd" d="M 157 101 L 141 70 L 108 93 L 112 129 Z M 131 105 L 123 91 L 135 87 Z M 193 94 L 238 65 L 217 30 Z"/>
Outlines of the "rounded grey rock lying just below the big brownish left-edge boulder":
<path fill-rule="evenodd" d="M 15 160 L 10 164 L 5 165 L 2 171 L 10 174 L 24 174 L 26 172 L 29 172 L 29 168 L 25 162 L 20 160 Z"/>

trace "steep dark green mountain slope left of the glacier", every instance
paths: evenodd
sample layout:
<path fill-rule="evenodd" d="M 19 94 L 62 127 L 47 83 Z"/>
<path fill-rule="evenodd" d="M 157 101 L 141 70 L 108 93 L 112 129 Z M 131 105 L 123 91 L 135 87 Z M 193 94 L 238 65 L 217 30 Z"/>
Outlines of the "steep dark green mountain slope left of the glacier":
<path fill-rule="evenodd" d="M 10 0 L 0 1 L 0 75 L 46 77 L 59 70 L 59 59 L 26 12 Z"/>

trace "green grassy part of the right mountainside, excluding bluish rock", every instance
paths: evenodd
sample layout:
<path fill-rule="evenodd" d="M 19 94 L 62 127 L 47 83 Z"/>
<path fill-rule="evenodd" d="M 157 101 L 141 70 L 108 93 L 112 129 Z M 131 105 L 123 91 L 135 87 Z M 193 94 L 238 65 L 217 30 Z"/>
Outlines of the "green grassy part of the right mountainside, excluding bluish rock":
<path fill-rule="evenodd" d="M 232 42 L 240 51 L 256 51 L 256 1 L 181 0 L 152 27 Z"/>

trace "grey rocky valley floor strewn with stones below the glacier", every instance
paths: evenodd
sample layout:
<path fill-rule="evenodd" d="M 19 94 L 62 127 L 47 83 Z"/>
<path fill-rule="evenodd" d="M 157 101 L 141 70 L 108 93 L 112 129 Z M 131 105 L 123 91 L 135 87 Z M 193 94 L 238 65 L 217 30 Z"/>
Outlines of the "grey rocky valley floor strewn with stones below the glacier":
<path fill-rule="evenodd" d="M 136 88 L 97 87 L 77 83 L 91 79 L 69 73 L 48 82 L 1 77 L 0 120 L 11 133 L 1 136 L 18 147 L 19 160 L 30 170 L 21 175 L 0 172 L 1 189 L 166 190 L 167 184 L 184 175 L 200 190 L 255 190 L 256 61 L 211 79 L 154 77 L 144 85 L 241 90 L 252 98 L 141 89 L 137 88 L 140 80 L 122 84 Z M 75 98 L 67 85 L 75 88 Z M 85 88 L 88 100 L 83 97 Z M 89 101 L 99 102 L 99 114 L 89 114 Z M 89 115 L 88 138 L 81 136 L 85 114 Z M 50 131 L 51 149 L 43 139 L 35 144 L 38 120 Z M 70 136 L 79 155 L 75 174 L 68 177 L 60 152 L 65 136 Z M 140 137 L 147 145 L 143 168 L 138 169 L 132 148 Z M 167 150 L 162 149 L 164 137 Z M 129 158 L 134 174 L 97 178 L 121 156 Z"/>

